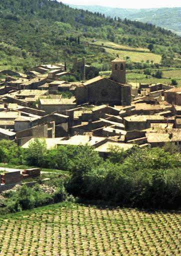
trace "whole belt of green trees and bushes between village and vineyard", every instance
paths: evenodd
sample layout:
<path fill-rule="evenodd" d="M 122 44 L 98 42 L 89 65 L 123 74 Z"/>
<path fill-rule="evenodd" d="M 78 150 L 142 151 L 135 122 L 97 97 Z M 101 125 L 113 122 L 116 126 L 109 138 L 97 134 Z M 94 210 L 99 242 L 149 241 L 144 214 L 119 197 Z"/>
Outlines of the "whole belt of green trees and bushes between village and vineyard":
<path fill-rule="evenodd" d="M 15 149 L 11 150 L 10 143 L 13 144 L 0 142 L 4 160 L 6 155 L 9 157 L 15 152 L 19 163 L 70 171 L 64 186 L 74 196 L 121 206 L 180 207 L 181 157 L 180 153 L 166 151 L 166 147 L 135 146 L 127 151 L 111 148 L 109 157 L 103 160 L 88 145 L 47 150 L 44 140 L 35 139 L 26 150 L 14 144 Z M 10 157 L 10 161 L 14 161 L 13 158 Z"/>

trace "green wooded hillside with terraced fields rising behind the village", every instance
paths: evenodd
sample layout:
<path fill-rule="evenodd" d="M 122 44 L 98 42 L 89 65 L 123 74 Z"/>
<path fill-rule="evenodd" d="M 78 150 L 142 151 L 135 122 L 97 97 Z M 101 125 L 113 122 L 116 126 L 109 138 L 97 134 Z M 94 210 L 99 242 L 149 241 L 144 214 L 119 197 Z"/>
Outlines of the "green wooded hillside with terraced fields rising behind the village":
<path fill-rule="evenodd" d="M 147 54 L 147 63 L 181 66 L 180 37 L 155 25 L 105 17 L 55 0 L 0 1 L 0 69 L 25 71 L 64 59 L 70 64 L 76 56 L 107 70 L 116 50 L 123 50 L 128 62 L 143 62 Z M 135 60 L 130 52 L 139 53 Z"/>

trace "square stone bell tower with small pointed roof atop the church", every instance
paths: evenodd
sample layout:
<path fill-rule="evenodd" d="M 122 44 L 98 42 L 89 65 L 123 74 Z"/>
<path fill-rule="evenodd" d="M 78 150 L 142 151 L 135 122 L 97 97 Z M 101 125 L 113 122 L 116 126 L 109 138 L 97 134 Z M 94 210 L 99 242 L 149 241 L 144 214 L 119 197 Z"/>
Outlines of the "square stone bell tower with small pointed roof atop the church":
<path fill-rule="evenodd" d="M 112 75 L 111 79 L 115 82 L 126 83 L 125 78 L 125 60 L 120 59 L 119 55 L 111 61 L 112 63 Z"/>

